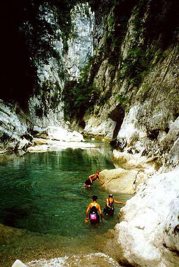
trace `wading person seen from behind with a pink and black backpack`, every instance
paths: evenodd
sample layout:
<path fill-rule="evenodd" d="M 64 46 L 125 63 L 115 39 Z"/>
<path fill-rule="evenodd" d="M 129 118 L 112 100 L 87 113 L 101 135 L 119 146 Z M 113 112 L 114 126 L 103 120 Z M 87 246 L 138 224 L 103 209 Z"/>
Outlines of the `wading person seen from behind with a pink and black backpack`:
<path fill-rule="evenodd" d="M 93 202 L 89 203 L 87 209 L 86 209 L 86 217 L 85 222 L 88 222 L 88 213 L 89 213 L 89 220 L 91 224 L 99 223 L 100 218 L 99 214 L 101 215 L 101 219 L 104 221 L 103 214 L 101 212 L 101 206 L 97 203 L 98 197 L 93 196 Z"/>

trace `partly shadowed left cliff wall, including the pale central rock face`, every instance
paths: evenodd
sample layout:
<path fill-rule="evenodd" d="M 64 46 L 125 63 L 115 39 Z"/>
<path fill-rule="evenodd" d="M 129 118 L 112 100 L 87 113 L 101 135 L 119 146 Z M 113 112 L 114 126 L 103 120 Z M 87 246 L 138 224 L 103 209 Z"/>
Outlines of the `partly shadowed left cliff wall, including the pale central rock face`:
<path fill-rule="evenodd" d="M 18 28 L 14 30 L 20 32 L 25 38 L 25 44 L 27 42 L 29 44 L 29 48 L 27 48 L 29 49 L 29 63 L 26 63 L 25 70 L 21 71 L 31 71 L 32 73 L 29 73 L 29 75 L 31 75 L 31 80 L 34 80 L 31 81 L 29 91 L 25 91 L 24 94 L 24 88 L 18 89 L 19 91 L 16 89 L 21 86 L 20 79 L 17 81 L 19 84 L 13 85 L 12 89 L 8 88 L 7 84 L 5 85 L 7 92 L 5 89 L 2 94 L 5 102 L 1 102 L 2 108 L 0 111 L 2 152 L 6 149 L 16 149 L 19 147 L 17 144 L 24 139 L 24 128 L 27 129 L 25 120 L 19 121 L 17 119 L 18 117 L 21 118 L 20 114 L 24 110 L 29 120 L 27 130 L 32 130 L 33 125 L 43 128 L 48 125 L 66 127 L 63 111 L 64 86 L 70 80 L 77 81 L 79 79 L 80 70 L 84 67 L 89 56 L 93 55 L 94 12 L 91 11 L 88 3 L 74 5 L 75 3 L 75 1 L 73 5 L 66 3 L 68 7 L 71 7 L 65 7 L 64 11 L 60 10 L 61 13 L 69 12 L 63 15 L 58 13 L 60 7 L 56 2 L 53 3 L 54 5 L 42 1 L 42 3 L 37 2 L 35 5 L 30 3 L 28 7 L 25 4 L 20 6 L 22 9 L 20 15 L 23 19 L 27 8 L 29 9 L 27 11 L 34 12 L 35 17 L 26 15 L 26 21 L 19 20 Z M 29 20 L 27 20 L 27 17 Z M 33 70 L 30 69 L 29 65 L 31 65 L 31 68 L 33 66 Z M 8 90 L 9 95 L 7 95 Z M 6 116 L 5 109 L 9 108 L 8 105 L 4 109 L 8 101 L 11 102 L 10 105 L 13 110 L 17 111 L 13 120 L 11 116 Z M 16 108 L 17 106 L 18 108 Z M 14 135 L 13 129 L 16 128 L 18 130 Z M 28 141 L 30 141 L 30 132 L 26 134 L 26 136 L 28 135 Z M 4 146 L 5 136 L 6 145 Z M 22 147 L 20 146 L 20 148 Z"/>

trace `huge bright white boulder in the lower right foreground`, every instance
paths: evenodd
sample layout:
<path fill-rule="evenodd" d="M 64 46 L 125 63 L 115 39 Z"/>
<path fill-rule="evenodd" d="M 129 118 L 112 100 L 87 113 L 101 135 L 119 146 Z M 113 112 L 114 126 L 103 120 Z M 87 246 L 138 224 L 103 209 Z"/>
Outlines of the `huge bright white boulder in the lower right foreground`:
<path fill-rule="evenodd" d="M 122 264 L 176 267 L 179 252 L 179 168 L 154 175 L 120 211 L 113 247 Z"/>

